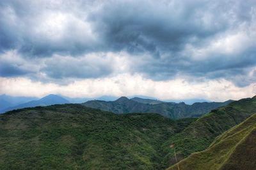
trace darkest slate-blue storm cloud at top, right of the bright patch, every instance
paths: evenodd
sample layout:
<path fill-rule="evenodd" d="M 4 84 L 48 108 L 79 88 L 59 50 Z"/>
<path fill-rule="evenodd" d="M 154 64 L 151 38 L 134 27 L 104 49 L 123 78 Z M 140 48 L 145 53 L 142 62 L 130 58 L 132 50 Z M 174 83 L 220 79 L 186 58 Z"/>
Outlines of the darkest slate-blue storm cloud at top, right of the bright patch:
<path fill-rule="evenodd" d="M 204 1 L 171 2 L 109 3 L 91 13 L 89 19 L 110 49 L 152 54 L 182 50 L 193 39 L 214 36 L 228 27 L 228 17 L 214 15 L 217 8 L 225 10 L 228 6 L 211 8 L 212 3 Z"/>

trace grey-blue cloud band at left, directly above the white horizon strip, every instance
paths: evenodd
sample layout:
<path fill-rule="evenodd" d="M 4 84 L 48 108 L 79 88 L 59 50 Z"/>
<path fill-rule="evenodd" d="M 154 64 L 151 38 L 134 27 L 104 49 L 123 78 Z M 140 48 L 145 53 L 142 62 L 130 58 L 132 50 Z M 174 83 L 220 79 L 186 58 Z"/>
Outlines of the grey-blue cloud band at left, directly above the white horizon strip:
<path fill-rule="evenodd" d="M 77 56 L 51 58 L 22 58 L 16 50 L 0 54 L 0 76 L 29 77 L 34 81 L 67 84 L 76 79 L 88 79 L 116 75 L 129 69 L 128 54 L 90 53 Z"/>

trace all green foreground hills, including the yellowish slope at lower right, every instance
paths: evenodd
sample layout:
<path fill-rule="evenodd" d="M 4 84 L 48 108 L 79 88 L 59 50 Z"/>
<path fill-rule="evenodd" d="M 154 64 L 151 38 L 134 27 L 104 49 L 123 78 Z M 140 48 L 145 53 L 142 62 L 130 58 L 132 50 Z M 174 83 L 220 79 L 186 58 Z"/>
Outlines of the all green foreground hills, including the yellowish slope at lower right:
<path fill-rule="evenodd" d="M 180 120 L 81 104 L 17 109 L 0 115 L 0 169 L 177 169 L 175 150 L 181 169 L 253 170 L 255 110 L 256 97 Z"/>

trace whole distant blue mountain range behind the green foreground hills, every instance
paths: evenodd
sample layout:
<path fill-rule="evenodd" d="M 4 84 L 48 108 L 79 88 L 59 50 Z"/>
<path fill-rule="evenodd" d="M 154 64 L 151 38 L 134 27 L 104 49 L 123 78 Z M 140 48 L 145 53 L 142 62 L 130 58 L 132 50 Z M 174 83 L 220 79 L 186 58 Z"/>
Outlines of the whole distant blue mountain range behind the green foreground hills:
<path fill-rule="evenodd" d="M 2 98 L 10 98 L 8 96 L 2 96 Z M 13 100 L 15 97 L 12 97 Z M 149 98 L 127 98 L 120 97 L 115 101 L 108 101 L 113 99 L 111 97 L 103 96 L 100 97 L 103 100 L 89 100 L 88 102 L 83 103 L 87 107 L 92 107 L 95 109 L 101 109 L 102 111 L 110 111 L 115 112 L 116 114 L 123 113 L 131 113 L 131 112 L 156 112 L 166 116 L 168 118 L 189 118 L 189 117 L 198 117 L 202 114 L 205 114 L 212 109 L 216 109 L 218 107 L 224 106 L 232 102 L 232 100 L 228 100 L 227 102 L 202 102 L 195 103 L 193 105 L 187 105 L 184 102 L 180 102 L 179 104 L 175 102 L 163 102 L 161 100 L 153 100 Z M 19 97 L 16 98 L 18 100 Z M 29 98 L 25 98 L 28 100 Z M 67 100 L 68 99 L 68 100 Z M 88 100 L 89 98 L 83 98 L 84 100 Z M 32 100 L 29 102 L 24 102 L 22 104 L 12 105 L 11 107 L 6 107 L 5 102 L 2 101 L 3 108 L 0 107 L 0 113 L 6 111 L 12 111 L 14 109 L 22 109 L 25 107 L 36 107 L 36 106 L 46 106 L 53 104 L 69 104 L 72 102 L 79 102 L 83 100 L 82 98 L 67 98 L 61 97 L 58 95 L 47 95 L 44 98 L 40 98 L 38 100 Z M 0 98 L 1 100 L 1 98 Z M 19 100 L 22 101 L 22 98 Z M 1 101 L 0 101 L 1 102 Z"/>

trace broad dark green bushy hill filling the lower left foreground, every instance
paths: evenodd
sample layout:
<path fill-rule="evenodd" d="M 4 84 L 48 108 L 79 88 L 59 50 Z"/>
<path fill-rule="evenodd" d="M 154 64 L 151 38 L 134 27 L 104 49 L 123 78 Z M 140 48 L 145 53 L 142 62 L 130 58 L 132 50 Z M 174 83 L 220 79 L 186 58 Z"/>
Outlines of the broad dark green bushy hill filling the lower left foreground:
<path fill-rule="evenodd" d="M 0 115 L 0 169 L 163 169 L 161 145 L 195 119 L 66 104 Z"/>

